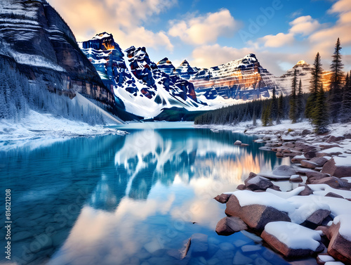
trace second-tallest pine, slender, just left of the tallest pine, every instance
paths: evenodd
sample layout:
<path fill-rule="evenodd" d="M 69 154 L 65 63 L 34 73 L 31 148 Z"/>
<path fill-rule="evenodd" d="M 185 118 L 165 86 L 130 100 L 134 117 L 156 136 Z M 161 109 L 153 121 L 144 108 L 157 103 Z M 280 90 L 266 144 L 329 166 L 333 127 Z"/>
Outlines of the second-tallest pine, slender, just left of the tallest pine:
<path fill-rule="evenodd" d="M 314 58 L 312 79 L 310 81 L 310 96 L 307 98 L 305 117 L 312 119 L 312 112 L 314 111 L 314 103 L 317 99 L 319 87 L 322 85 L 322 63 L 321 56 L 317 53 Z"/>

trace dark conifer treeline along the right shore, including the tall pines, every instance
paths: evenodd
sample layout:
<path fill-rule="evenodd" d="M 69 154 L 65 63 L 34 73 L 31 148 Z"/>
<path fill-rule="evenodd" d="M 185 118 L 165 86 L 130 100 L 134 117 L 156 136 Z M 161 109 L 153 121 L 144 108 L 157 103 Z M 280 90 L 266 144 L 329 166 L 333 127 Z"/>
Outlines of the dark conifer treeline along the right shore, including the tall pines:
<path fill-rule="evenodd" d="M 291 119 L 292 123 L 303 118 L 310 120 L 317 134 L 328 131 L 327 126 L 336 122 L 351 122 L 351 72 L 344 80 L 343 63 L 340 54 L 340 39 L 336 41 L 331 63 L 331 83 L 326 93 L 322 83 L 322 63 L 317 53 L 310 79 L 310 93 L 303 93 L 302 82 L 293 72 L 291 94 L 276 96 L 273 88 L 272 98 L 249 103 L 241 103 L 226 108 L 206 112 L 197 117 L 195 124 L 237 124 L 261 118 L 263 126 L 279 124 L 282 119 Z"/>

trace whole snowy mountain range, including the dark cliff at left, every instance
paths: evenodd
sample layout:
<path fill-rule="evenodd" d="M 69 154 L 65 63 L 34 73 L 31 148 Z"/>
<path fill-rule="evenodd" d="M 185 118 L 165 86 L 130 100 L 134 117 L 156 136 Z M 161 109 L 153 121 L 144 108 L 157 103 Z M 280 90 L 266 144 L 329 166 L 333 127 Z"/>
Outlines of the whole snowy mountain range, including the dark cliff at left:
<path fill-rule="evenodd" d="M 289 94 L 294 69 L 307 92 L 312 70 L 301 60 L 274 77 L 253 53 L 210 68 L 194 67 L 187 60 L 175 67 L 168 58 L 156 64 L 145 47 L 123 50 L 107 32 L 77 43 L 45 0 L 1 1 L 0 25 L 0 59 L 31 82 L 42 80 L 49 91 L 69 98 L 81 93 L 105 110 L 130 112 L 132 118 L 270 98 L 273 88 Z M 325 87 L 329 75 L 324 73 Z"/>

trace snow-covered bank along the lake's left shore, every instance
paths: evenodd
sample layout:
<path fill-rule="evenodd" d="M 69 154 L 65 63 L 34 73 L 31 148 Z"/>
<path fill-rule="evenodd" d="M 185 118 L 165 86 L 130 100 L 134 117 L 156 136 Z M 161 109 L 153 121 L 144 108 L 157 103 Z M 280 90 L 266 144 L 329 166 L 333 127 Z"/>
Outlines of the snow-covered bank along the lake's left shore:
<path fill-rule="evenodd" d="M 125 131 L 91 126 L 84 122 L 72 121 L 51 114 L 30 110 L 28 116 L 20 122 L 1 119 L 0 151 L 22 146 L 35 148 L 37 145 L 50 145 L 56 141 L 66 141 L 78 136 L 99 136 L 107 134 L 126 134 Z"/>

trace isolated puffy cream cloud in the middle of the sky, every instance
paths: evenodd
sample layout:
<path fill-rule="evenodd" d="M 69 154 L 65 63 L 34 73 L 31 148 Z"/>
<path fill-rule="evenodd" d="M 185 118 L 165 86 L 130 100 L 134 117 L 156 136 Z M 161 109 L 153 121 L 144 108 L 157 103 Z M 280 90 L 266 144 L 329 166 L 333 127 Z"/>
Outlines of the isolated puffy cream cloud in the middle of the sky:
<path fill-rule="evenodd" d="M 168 34 L 187 44 L 203 45 L 216 42 L 220 36 L 231 37 L 238 27 L 239 22 L 234 20 L 230 11 L 222 9 L 188 20 L 173 21 Z"/>

